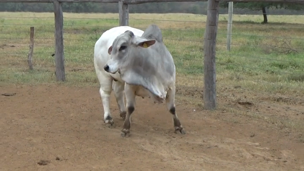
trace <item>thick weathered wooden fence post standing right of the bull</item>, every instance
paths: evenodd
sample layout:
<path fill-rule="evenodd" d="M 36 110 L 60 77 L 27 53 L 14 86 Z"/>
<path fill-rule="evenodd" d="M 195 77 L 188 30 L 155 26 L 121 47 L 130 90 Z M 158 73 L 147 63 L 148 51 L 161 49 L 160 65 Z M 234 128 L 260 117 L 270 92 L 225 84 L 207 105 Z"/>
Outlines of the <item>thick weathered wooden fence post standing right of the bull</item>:
<path fill-rule="evenodd" d="M 204 108 L 216 108 L 215 45 L 218 22 L 218 1 L 208 0 L 204 34 Z"/>

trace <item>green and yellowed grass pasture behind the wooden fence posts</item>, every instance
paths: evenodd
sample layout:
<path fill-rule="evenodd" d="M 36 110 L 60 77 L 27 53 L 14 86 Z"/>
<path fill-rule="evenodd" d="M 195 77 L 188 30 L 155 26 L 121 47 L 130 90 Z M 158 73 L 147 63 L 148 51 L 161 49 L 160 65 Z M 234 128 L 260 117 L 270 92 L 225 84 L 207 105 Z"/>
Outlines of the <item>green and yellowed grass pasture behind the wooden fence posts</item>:
<path fill-rule="evenodd" d="M 53 82 L 53 14 L 0 13 L 0 17 L 3 32 L 0 81 Z M 64 17 L 67 82 L 97 83 L 93 68 L 94 44 L 103 31 L 118 25 L 118 14 L 64 13 Z M 264 25 L 259 24 L 261 16 L 234 15 L 231 52 L 226 51 L 225 45 L 226 17 L 219 17 L 217 79 L 223 84 L 257 91 L 299 93 L 292 88 L 301 88 L 304 77 L 304 16 L 269 16 L 273 23 Z M 142 29 L 150 23 L 158 24 L 174 57 L 177 74 L 202 78 L 205 21 L 204 15 L 130 14 L 129 23 Z M 28 71 L 26 65 L 30 26 L 35 27 L 34 71 Z M 10 47 L 12 45 L 15 47 Z M 71 71 L 75 68 L 82 70 Z M 279 86 L 251 84 L 254 80 Z"/>

